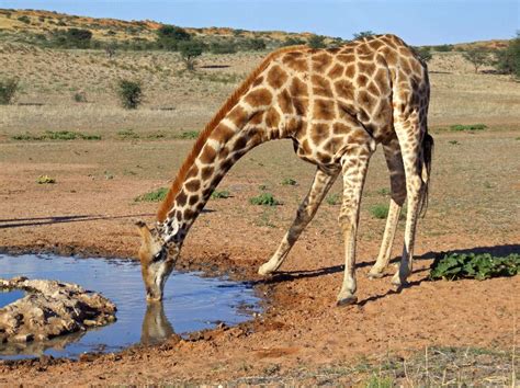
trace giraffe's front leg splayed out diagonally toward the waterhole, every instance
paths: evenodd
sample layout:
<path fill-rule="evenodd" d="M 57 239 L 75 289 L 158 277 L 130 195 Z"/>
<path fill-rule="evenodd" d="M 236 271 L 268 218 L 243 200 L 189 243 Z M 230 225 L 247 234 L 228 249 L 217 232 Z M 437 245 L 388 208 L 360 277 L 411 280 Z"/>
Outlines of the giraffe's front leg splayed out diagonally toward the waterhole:
<path fill-rule="evenodd" d="M 276 249 L 276 252 L 274 252 L 272 258 L 267 263 L 262 264 L 258 270 L 260 275 L 270 274 L 276 271 L 280 265 L 282 265 L 283 261 L 289 254 L 289 251 L 294 246 L 307 224 L 313 219 L 316 210 L 319 207 L 319 204 L 324 199 L 325 195 L 327 195 L 327 192 L 332 186 L 337 176 L 337 173 L 331 175 L 321 171 L 320 169 L 316 171 L 310 190 L 299 205 L 293 225 L 283 237 L 282 242 Z"/>

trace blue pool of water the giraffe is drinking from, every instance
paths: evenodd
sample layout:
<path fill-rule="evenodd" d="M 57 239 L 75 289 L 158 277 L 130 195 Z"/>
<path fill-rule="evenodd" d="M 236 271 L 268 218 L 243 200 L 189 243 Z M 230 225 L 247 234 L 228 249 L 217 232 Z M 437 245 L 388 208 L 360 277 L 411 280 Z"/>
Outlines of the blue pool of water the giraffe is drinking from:
<path fill-rule="evenodd" d="M 157 343 L 173 332 L 186 335 L 221 322 L 237 324 L 260 310 L 260 299 L 245 283 L 179 272 L 173 272 L 167 282 L 162 304 L 147 306 L 139 265 L 129 260 L 0 254 L 0 277 L 21 275 L 77 283 L 100 292 L 117 306 L 117 321 L 43 344 L 18 347 L 0 344 L 0 358 L 39 354 L 75 357 L 83 352 L 114 352 L 136 343 Z M 0 307 L 22 296 L 18 290 L 0 293 Z"/>

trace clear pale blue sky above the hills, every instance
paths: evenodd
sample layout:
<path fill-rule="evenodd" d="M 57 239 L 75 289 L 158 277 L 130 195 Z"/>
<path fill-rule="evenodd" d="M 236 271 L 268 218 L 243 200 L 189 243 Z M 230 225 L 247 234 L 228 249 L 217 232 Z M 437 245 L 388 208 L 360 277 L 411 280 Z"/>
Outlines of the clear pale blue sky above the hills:
<path fill-rule="evenodd" d="M 0 0 L 0 8 L 156 20 L 181 26 L 282 30 L 352 37 L 394 33 L 412 45 L 510 38 L 519 0 Z"/>

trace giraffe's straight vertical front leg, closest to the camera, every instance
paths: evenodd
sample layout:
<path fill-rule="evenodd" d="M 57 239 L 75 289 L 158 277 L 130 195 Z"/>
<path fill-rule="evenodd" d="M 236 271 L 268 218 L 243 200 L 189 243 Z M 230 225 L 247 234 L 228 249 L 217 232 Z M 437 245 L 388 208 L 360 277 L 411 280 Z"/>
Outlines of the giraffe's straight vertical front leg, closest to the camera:
<path fill-rule="evenodd" d="M 363 150 L 364 151 L 364 150 Z M 355 239 L 360 214 L 361 194 L 366 176 L 371 150 L 361 155 L 346 155 L 341 159 L 343 174 L 343 202 L 339 224 L 344 238 L 344 274 L 343 284 L 337 298 L 338 306 L 352 305 L 358 301 L 354 295 L 355 284 Z"/>

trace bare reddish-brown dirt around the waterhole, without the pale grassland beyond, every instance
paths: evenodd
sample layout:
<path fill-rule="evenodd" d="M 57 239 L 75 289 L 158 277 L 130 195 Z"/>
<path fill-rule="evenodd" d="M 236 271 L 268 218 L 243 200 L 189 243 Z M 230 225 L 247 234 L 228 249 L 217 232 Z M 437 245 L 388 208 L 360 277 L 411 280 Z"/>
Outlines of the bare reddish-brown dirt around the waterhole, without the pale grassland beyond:
<path fill-rule="evenodd" d="M 360 357 L 393 354 L 406 360 L 432 346 L 510 352 L 515 343 L 518 346 L 518 276 L 432 283 L 427 275 L 440 251 L 519 251 L 518 133 L 441 133 L 436 141 L 430 208 L 420 221 L 411 284 L 403 292 L 391 287 L 392 269 L 382 279 L 365 276 L 384 228 L 384 220 L 369 212 L 371 204 L 387 201 L 381 194 L 381 187 L 387 186 L 381 151 L 374 156 L 363 199 L 358 306 L 335 307 L 342 276 L 338 205 L 324 203 L 281 274 L 256 275 L 258 265 L 275 250 L 314 170 L 296 159 L 289 144 L 268 144 L 245 157 L 221 183 L 233 197 L 211 199 L 206 208 L 212 212 L 195 222 L 178 263 L 180 269 L 235 273 L 255 282 L 265 297 L 264 313 L 238 329 L 214 330 L 196 341 L 172 340 L 80 362 L 1 362 L 0 384 L 247 383 L 247 376 L 287 378 L 303 369 L 307 370 L 303 380 L 316 383 L 316 370 L 358 365 Z M 163 185 L 190 145 L 1 144 L 2 250 L 134 256 L 139 238 L 132 222 L 136 218 L 151 222 L 157 207 L 134 198 Z M 42 174 L 52 175 L 56 183 L 36 184 Z M 298 184 L 282 185 L 284 176 Z M 274 209 L 250 205 L 248 198 L 259 193 L 260 184 L 283 205 Z M 395 256 L 402 238 L 403 227 Z M 353 384 L 352 376 L 339 375 L 335 381 Z"/>

